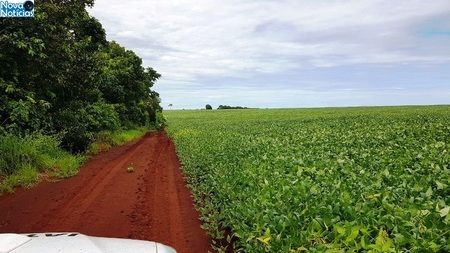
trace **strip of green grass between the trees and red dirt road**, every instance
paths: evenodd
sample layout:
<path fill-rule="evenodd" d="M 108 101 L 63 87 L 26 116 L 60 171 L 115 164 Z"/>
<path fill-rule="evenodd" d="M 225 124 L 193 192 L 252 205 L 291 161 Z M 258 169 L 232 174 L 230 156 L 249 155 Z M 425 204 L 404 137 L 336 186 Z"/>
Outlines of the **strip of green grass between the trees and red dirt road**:
<path fill-rule="evenodd" d="M 141 127 L 99 133 L 86 154 L 73 155 L 59 147 L 57 138 L 35 134 L 19 138 L 0 136 L 0 195 L 16 187 L 30 188 L 43 179 L 75 176 L 79 167 L 93 155 L 144 136 L 151 129 Z"/>

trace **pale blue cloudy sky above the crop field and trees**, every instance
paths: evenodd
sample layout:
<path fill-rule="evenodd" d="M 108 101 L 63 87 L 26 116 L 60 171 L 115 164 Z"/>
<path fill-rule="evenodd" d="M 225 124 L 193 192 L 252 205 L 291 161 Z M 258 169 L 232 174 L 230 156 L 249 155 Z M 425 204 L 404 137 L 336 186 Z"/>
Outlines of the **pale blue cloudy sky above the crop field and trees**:
<path fill-rule="evenodd" d="M 165 109 L 450 104 L 449 0 L 95 0 Z"/>

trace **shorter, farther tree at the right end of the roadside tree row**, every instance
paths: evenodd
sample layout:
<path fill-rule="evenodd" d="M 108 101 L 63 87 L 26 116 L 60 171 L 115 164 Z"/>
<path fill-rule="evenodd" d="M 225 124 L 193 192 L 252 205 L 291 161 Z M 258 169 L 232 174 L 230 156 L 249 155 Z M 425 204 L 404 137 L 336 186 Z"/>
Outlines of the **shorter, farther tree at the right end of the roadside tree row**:
<path fill-rule="evenodd" d="M 115 41 L 99 55 L 103 62 L 99 89 L 103 99 L 116 106 L 122 125 L 155 123 L 162 108 L 159 94 L 150 88 L 161 75 L 152 68 L 144 69 L 141 58 Z"/>

